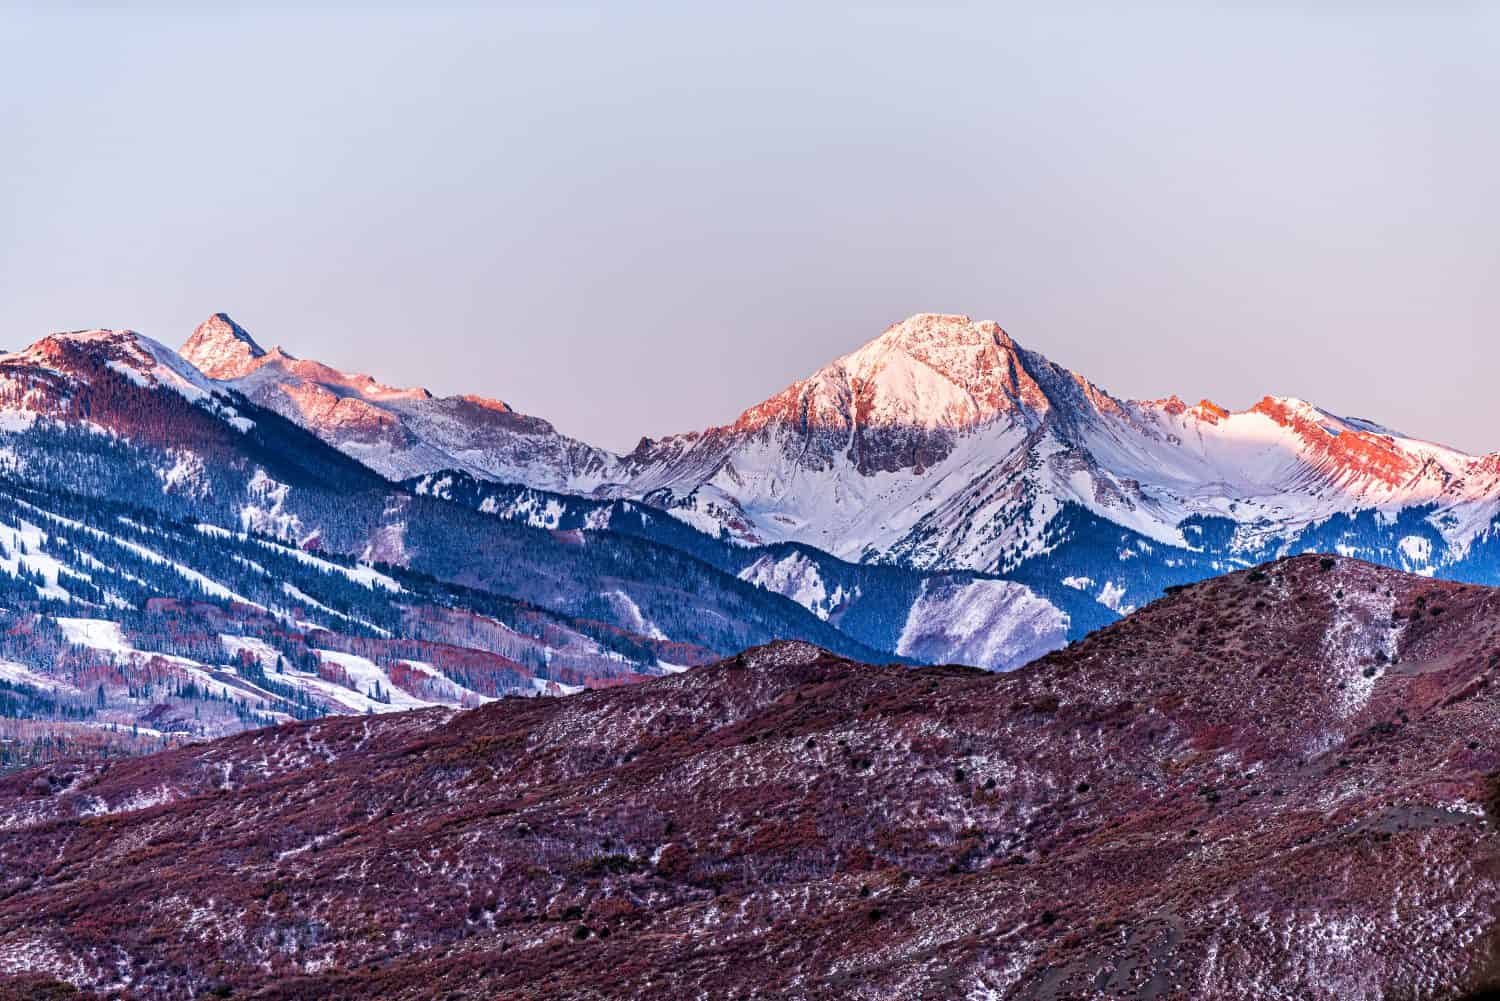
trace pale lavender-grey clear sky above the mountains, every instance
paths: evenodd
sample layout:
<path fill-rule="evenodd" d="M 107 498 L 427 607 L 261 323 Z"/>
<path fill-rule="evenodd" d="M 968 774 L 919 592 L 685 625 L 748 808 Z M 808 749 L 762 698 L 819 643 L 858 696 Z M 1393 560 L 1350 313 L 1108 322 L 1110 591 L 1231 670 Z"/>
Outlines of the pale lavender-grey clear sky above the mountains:
<path fill-rule="evenodd" d="M 1500 8 L 1040 6 L 6 8 L 0 347 L 226 311 L 628 449 L 962 312 L 1500 450 Z"/>

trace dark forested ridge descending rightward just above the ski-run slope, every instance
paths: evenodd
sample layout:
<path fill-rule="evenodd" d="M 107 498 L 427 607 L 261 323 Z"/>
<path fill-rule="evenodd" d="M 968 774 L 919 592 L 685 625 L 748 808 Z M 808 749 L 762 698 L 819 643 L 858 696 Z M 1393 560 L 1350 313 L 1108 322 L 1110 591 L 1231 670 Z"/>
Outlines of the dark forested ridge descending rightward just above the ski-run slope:
<path fill-rule="evenodd" d="M 130 332 L 54 335 L 0 357 L 0 471 L 57 494 L 162 518 L 268 533 L 384 561 L 687 653 L 796 636 L 882 653 L 816 615 L 646 539 L 510 524 L 418 497 L 238 390 Z M 602 587 L 624 602 L 600 599 Z M 642 618 L 644 617 L 644 618 Z"/>

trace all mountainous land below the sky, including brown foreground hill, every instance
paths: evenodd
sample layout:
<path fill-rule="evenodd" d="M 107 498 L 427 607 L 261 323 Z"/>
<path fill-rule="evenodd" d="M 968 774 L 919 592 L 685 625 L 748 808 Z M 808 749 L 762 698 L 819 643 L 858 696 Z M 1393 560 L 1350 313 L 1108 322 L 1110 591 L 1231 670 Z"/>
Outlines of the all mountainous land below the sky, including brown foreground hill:
<path fill-rule="evenodd" d="M 1492 996 L 1497 465 L 954 315 L 626 455 L 50 335 L 0 1001 Z"/>

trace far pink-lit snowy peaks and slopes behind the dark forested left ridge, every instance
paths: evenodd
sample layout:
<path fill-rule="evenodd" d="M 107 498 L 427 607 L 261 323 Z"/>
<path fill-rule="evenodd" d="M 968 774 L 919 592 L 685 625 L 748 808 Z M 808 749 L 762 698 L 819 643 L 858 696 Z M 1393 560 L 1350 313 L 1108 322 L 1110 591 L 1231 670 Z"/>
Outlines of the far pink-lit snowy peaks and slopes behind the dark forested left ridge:
<path fill-rule="evenodd" d="M 1130 401 L 999 324 L 918 314 L 734 423 L 626 456 L 472 396 L 260 351 L 225 317 L 184 347 L 392 479 L 640 500 L 742 543 L 1026 582 L 1078 632 L 1160 588 L 1308 548 L 1500 581 L 1500 456 L 1268 396 Z"/>

